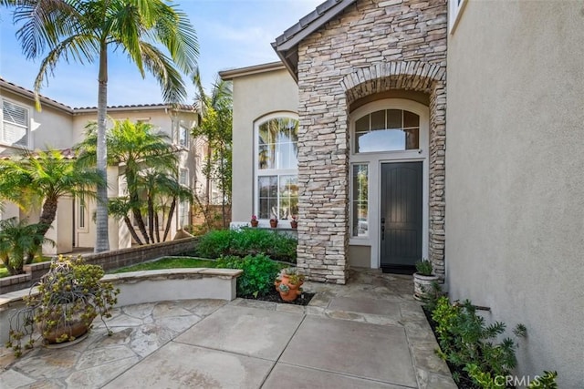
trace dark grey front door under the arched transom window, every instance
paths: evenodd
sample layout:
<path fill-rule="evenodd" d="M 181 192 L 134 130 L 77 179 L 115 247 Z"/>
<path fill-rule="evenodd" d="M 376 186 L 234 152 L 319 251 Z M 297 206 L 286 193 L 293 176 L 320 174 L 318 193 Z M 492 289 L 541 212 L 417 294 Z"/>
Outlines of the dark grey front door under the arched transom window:
<path fill-rule="evenodd" d="M 381 269 L 412 273 L 422 259 L 422 162 L 381 164 Z"/>

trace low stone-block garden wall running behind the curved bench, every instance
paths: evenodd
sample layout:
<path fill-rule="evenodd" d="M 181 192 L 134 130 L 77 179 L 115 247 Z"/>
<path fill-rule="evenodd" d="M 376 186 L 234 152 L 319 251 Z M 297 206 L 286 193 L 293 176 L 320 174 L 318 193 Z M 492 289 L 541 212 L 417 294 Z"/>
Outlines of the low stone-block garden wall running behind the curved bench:
<path fill-rule="evenodd" d="M 85 261 L 100 265 L 105 271 L 120 269 L 144 261 L 151 261 L 168 255 L 177 255 L 193 251 L 197 238 L 187 238 L 179 241 L 132 247 L 130 249 L 100 252 L 99 254 L 84 254 Z M 25 265 L 26 274 L 0 278 L 0 294 L 29 288 L 50 268 L 50 261 Z"/>

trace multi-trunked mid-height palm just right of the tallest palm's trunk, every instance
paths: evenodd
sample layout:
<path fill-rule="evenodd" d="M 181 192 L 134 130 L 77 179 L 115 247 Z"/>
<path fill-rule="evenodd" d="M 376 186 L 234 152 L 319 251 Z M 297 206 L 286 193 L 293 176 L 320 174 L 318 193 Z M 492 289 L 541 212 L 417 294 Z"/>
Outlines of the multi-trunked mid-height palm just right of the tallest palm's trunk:
<path fill-rule="evenodd" d="M 86 138 L 76 148 L 80 151 L 79 162 L 84 166 L 92 166 L 97 156 L 97 123 L 89 123 L 86 128 Z M 108 165 L 123 167 L 120 174 L 125 178 L 128 190 L 127 198 L 110 203 L 110 210 L 124 220 L 134 241 L 139 244 L 142 241 L 136 239 L 137 234 L 134 235 L 130 219 L 124 217 L 127 218 L 128 212 L 131 212 L 145 243 L 157 241 L 152 230 L 157 215 L 154 199 L 165 188 L 169 177 L 178 175 L 178 156 L 168 140 L 166 135 L 155 132 L 151 124 L 132 123 L 130 120 L 113 120 L 113 127 L 106 134 L 110 149 Z M 143 206 L 144 199 L 148 203 L 146 207 Z M 147 220 L 150 221 L 148 230 L 142 217 L 144 208 L 148 212 Z M 172 219 L 172 211 L 169 219 Z"/>

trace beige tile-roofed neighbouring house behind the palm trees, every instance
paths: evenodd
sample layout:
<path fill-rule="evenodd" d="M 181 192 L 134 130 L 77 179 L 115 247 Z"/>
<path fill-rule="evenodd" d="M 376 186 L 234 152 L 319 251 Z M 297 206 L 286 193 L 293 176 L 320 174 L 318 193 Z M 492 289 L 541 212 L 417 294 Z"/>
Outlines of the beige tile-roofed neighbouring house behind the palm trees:
<path fill-rule="evenodd" d="M 26 149 L 68 149 L 80 142 L 86 126 L 97 118 L 95 107 L 72 108 L 41 97 L 41 111 L 35 108 L 34 95 L 30 90 L 18 87 L 0 78 L 0 156 L 7 156 Z M 193 191 L 203 193 L 206 180 L 201 165 L 206 153 L 206 143 L 190 136 L 190 129 L 197 122 L 193 106 L 171 107 L 164 104 L 109 107 L 112 119 L 144 121 L 167 135 L 179 153 L 180 180 Z M 108 195 L 117 197 L 125 192 L 119 167 L 108 169 Z M 70 252 L 74 248 L 91 248 L 95 243 L 96 226 L 93 220 L 94 200 L 87 203 L 79 199 L 62 198 L 57 208 L 57 218 L 47 232 L 47 238 L 56 246 L 46 246 L 47 254 Z M 28 217 L 35 222 L 39 211 L 25 215 L 14 204 L 5 204 L 2 218 Z M 191 224 L 190 204 L 181 203 L 173 215 L 170 238 L 176 230 Z M 162 226 L 163 229 L 164 226 Z M 130 232 L 123 221 L 110 218 L 110 250 L 130 247 Z"/>

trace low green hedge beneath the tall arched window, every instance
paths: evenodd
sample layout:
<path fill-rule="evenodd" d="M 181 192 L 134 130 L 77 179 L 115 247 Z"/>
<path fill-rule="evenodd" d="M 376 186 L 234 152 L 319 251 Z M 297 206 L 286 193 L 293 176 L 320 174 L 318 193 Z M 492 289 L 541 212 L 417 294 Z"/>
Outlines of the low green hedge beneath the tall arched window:
<path fill-rule="evenodd" d="M 265 254 L 275 261 L 296 263 L 297 239 L 272 230 L 213 230 L 201 237 L 196 252 L 205 258 Z"/>

